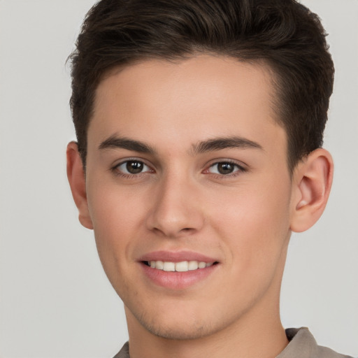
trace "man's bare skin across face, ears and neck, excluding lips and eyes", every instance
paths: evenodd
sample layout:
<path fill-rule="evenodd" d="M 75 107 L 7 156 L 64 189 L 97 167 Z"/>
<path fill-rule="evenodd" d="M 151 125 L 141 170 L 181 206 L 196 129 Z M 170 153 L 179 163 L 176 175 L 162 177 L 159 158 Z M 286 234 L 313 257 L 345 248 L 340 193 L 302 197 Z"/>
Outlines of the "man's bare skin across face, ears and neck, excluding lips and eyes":
<path fill-rule="evenodd" d="M 318 149 L 289 173 L 271 76 L 264 64 L 210 55 L 127 66 L 97 88 L 86 176 L 69 144 L 73 198 L 124 302 L 131 358 L 275 357 L 287 345 L 279 296 L 289 237 L 322 214 L 333 164 Z M 197 150 L 233 136 L 256 146 Z M 152 151 L 103 145 L 108 138 Z M 119 166 L 129 159 L 143 171 Z M 138 262 L 156 250 L 218 264 L 194 285 L 168 289 Z"/>

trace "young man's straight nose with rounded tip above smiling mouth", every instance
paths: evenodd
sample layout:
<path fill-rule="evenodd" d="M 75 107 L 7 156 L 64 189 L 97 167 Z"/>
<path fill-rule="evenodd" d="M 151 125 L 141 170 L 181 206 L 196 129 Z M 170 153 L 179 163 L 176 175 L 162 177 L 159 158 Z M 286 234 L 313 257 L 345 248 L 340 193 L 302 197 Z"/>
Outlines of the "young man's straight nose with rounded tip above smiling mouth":
<path fill-rule="evenodd" d="M 148 212 L 148 229 L 168 238 L 200 231 L 204 215 L 198 189 L 187 178 L 167 176 L 157 184 Z"/>

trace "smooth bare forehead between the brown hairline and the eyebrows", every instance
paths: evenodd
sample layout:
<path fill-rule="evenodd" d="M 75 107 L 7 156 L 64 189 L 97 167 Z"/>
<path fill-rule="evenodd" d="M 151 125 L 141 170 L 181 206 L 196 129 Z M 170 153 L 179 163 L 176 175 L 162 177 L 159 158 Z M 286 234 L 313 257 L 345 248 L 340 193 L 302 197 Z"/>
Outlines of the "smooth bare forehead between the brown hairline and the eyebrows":
<path fill-rule="evenodd" d="M 283 131 L 271 76 L 265 64 L 210 55 L 112 71 L 96 90 L 89 145 L 114 134 L 168 148 L 232 135 L 265 144 Z"/>

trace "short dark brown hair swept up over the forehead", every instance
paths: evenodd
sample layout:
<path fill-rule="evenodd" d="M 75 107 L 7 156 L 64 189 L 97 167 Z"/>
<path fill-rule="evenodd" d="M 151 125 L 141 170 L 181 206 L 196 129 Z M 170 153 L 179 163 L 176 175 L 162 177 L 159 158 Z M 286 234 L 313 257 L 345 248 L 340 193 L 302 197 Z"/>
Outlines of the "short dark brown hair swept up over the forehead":
<path fill-rule="evenodd" d="M 71 54 L 71 110 L 85 165 L 87 129 L 103 75 L 145 59 L 198 52 L 264 60 L 275 73 L 287 161 L 323 142 L 334 64 L 319 17 L 294 0 L 101 0 L 85 17 Z"/>

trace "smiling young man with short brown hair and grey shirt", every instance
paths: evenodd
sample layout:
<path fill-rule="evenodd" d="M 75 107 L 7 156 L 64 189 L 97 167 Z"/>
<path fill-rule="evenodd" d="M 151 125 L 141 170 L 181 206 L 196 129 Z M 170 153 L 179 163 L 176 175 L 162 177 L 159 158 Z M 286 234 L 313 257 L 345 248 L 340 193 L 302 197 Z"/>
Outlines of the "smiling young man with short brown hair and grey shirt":
<path fill-rule="evenodd" d="M 343 357 L 279 313 L 290 234 L 331 188 L 324 36 L 292 0 L 102 0 L 88 13 L 68 176 L 124 302 L 116 357 Z"/>

